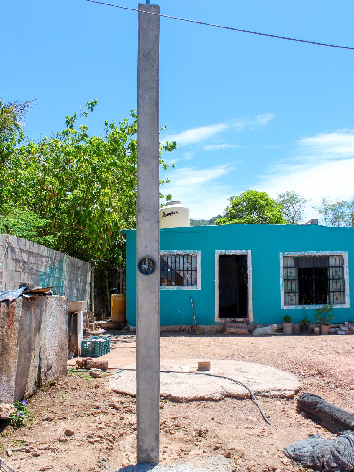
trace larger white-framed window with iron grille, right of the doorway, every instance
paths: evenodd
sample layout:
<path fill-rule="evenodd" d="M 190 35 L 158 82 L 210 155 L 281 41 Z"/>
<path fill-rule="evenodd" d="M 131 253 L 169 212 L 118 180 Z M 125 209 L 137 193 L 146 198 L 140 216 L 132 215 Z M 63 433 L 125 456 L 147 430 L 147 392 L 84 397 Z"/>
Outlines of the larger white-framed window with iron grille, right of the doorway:
<path fill-rule="evenodd" d="M 345 304 L 343 255 L 283 256 L 284 305 Z"/>

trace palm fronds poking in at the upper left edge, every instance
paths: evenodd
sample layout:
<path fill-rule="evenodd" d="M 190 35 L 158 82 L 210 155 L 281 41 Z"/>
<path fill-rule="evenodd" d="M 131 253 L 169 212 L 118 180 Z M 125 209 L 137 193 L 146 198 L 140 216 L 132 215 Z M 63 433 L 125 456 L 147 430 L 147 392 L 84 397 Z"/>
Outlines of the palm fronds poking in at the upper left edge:
<path fill-rule="evenodd" d="M 31 110 L 34 100 L 2 103 L 0 99 L 0 135 L 22 131 L 25 115 Z"/>

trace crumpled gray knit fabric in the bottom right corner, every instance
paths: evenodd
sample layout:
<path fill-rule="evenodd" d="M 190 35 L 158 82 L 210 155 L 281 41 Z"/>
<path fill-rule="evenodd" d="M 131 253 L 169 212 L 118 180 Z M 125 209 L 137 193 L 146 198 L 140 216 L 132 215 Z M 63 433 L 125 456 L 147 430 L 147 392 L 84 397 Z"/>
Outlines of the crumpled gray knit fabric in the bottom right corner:
<path fill-rule="evenodd" d="M 285 447 L 284 454 L 315 471 L 354 471 L 354 436 L 344 434 L 331 441 L 314 434 Z"/>

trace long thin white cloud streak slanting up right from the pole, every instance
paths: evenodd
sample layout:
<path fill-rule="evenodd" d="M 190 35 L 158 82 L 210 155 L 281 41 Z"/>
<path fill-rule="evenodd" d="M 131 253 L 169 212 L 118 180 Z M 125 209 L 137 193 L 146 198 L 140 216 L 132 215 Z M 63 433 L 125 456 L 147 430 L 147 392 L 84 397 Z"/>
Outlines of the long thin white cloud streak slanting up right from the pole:
<path fill-rule="evenodd" d="M 249 118 L 240 120 L 231 120 L 226 123 L 216 123 L 210 126 L 201 126 L 200 128 L 192 128 L 182 131 L 178 134 L 172 134 L 167 136 L 161 136 L 161 143 L 166 141 L 177 141 L 177 145 L 185 146 L 186 144 L 200 143 L 212 136 L 215 136 L 227 129 L 236 129 L 237 131 L 243 131 L 246 127 L 253 129 L 257 126 L 264 126 L 270 122 L 275 115 L 266 113 L 265 115 L 258 115 L 254 120 Z"/>

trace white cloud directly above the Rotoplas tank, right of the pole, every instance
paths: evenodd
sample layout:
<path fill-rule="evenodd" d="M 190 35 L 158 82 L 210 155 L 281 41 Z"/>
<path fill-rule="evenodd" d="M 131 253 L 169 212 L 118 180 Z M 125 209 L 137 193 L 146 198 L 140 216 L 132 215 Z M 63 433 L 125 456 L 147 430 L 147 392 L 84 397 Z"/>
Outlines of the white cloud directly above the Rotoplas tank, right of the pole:
<path fill-rule="evenodd" d="M 230 188 L 222 184 L 221 177 L 233 170 L 230 164 L 196 169 L 173 169 L 171 182 L 161 187 L 162 194 L 172 194 L 174 200 L 189 208 L 192 219 L 211 219 L 228 205 Z"/>

